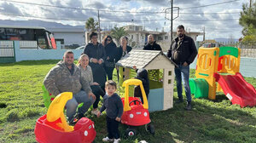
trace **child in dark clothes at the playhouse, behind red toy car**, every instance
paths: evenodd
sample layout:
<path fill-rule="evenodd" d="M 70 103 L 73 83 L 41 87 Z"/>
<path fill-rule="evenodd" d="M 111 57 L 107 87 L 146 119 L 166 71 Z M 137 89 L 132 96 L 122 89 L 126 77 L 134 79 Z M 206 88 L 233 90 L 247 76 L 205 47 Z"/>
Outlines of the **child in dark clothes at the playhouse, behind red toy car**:
<path fill-rule="evenodd" d="M 147 72 L 147 70 L 145 70 L 143 68 L 137 70 L 136 66 L 133 66 L 133 68 L 137 72 L 137 77 L 135 77 L 135 78 L 137 78 L 143 82 L 143 88 L 145 90 L 145 93 L 146 93 L 146 96 L 148 99 L 148 94 L 149 94 L 148 72 Z M 141 88 L 139 86 L 134 88 L 134 96 L 139 97 L 143 102 L 143 94 L 142 94 Z"/>

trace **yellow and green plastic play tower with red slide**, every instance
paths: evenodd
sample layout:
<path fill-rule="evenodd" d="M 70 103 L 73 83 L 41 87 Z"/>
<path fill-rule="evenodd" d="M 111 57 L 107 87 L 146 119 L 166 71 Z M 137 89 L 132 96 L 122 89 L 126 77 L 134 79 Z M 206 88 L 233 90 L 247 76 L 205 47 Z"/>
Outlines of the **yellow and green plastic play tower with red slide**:
<path fill-rule="evenodd" d="M 241 49 L 235 47 L 200 48 L 196 78 L 189 79 L 191 94 L 215 100 L 216 91 L 223 91 L 232 104 L 255 106 L 256 90 L 239 72 L 240 53 Z"/>

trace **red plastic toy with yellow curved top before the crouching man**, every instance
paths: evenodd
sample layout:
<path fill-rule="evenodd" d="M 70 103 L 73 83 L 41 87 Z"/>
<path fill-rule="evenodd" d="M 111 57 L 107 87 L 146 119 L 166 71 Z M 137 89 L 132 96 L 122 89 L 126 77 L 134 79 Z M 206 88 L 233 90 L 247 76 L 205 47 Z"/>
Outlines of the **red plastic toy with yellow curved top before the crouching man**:
<path fill-rule="evenodd" d="M 89 118 L 82 117 L 74 127 L 67 124 L 63 110 L 72 98 L 71 92 L 59 94 L 49 105 L 47 114 L 38 118 L 35 127 L 38 142 L 89 143 L 95 139 L 95 126 Z"/>

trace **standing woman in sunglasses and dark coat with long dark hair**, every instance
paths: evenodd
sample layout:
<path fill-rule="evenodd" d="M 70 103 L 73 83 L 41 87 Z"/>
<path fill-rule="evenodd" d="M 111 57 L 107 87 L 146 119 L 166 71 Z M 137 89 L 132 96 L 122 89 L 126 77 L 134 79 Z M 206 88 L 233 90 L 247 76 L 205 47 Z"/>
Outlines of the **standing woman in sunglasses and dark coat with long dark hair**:
<path fill-rule="evenodd" d="M 113 43 L 113 39 L 109 35 L 104 37 L 102 44 L 107 56 L 107 59 L 104 62 L 104 68 L 107 73 L 108 80 L 112 80 L 117 51 L 116 44 Z"/>

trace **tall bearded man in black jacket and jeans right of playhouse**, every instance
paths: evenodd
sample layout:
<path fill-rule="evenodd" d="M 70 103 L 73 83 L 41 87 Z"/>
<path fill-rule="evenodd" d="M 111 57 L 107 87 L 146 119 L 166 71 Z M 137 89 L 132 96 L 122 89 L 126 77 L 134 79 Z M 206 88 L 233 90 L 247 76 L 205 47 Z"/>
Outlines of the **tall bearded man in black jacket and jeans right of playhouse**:
<path fill-rule="evenodd" d="M 177 66 L 175 67 L 175 76 L 177 82 L 177 96 L 176 103 L 183 102 L 183 86 L 185 89 L 188 104 L 186 110 L 190 111 L 191 107 L 191 93 L 189 87 L 189 64 L 195 60 L 197 50 L 194 40 L 191 37 L 185 35 L 184 26 L 177 26 L 177 37 L 172 40 L 170 49 L 167 52 L 167 56 L 173 60 Z M 182 77 L 183 83 L 182 86 Z"/>

